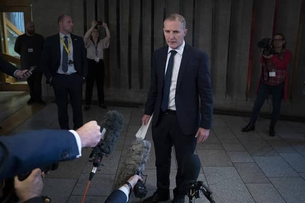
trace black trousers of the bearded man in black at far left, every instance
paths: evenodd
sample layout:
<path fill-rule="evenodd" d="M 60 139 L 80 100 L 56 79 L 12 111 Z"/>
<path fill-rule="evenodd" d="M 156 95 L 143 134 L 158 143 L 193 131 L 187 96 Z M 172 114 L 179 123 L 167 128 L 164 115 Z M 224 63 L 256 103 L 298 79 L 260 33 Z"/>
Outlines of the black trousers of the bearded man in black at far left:
<path fill-rule="evenodd" d="M 29 88 L 29 95 L 34 101 L 41 100 L 41 79 L 42 72 L 40 71 L 34 72 L 30 77 L 26 79 Z"/>

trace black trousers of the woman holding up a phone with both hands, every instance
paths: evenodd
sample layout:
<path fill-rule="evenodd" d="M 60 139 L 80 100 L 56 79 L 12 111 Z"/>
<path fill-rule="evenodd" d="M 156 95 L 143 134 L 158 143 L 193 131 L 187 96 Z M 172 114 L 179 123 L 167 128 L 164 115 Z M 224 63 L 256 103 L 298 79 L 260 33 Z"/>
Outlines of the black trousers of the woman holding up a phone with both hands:
<path fill-rule="evenodd" d="M 104 81 L 105 66 L 104 61 L 100 59 L 97 63 L 93 59 L 88 59 L 88 76 L 86 80 L 86 105 L 90 105 L 92 101 L 92 92 L 94 82 L 97 82 L 99 104 L 104 104 Z"/>

